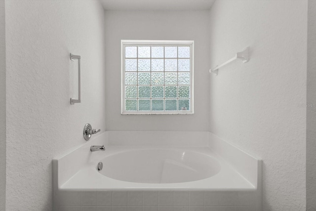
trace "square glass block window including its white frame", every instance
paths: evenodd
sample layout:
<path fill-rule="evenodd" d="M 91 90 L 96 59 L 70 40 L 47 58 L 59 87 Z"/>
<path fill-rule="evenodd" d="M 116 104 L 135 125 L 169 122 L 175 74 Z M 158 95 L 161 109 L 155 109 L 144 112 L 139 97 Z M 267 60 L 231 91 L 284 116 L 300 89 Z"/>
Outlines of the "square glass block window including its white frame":
<path fill-rule="evenodd" d="M 122 114 L 193 114 L 193 41 L 121 41 Z"/>

